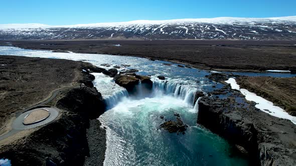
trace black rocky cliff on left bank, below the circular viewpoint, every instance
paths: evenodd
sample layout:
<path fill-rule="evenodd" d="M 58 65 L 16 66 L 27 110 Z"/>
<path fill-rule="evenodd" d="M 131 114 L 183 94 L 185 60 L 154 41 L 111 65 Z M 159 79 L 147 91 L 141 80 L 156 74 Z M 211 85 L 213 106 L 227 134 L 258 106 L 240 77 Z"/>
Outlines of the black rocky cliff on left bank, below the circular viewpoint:
<path fill-rule="evenodd" d="M 95 88 L 79 87 L 70 89 L 58 100 L 61 108 L 60 117 L 32 132 L 30 135 L 13 144 L 2 146 L 0 157 L 12 160 L 12 165 L 83 165 L 85 156 L 89 156 L 90 149 L 87 138 L 87 128 L 94 127 L 89 121 L 104 112 L 101 94 Z M 105 137 L 101 131 L 92 136 Z M 106 142 L 98 144 L 99 159 L 93 162 L 102 165 Z M 97 153 L 96 153 L 97 154 Z"/>

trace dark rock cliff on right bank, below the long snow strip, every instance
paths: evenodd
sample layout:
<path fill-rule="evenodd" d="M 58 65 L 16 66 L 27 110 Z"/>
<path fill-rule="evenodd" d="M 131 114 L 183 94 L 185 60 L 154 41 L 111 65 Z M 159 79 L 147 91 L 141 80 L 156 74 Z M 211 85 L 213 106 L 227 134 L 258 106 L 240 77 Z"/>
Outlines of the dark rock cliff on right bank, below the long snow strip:
<path fill-rule="evenodd" d="M 255 164 L 296 164 L 296 127 L 289 120 L 258 111 L 252 105 L 243 107 L 233 96 L 203 97 L 198 104 L 197 122 L 243 147 Z"/>

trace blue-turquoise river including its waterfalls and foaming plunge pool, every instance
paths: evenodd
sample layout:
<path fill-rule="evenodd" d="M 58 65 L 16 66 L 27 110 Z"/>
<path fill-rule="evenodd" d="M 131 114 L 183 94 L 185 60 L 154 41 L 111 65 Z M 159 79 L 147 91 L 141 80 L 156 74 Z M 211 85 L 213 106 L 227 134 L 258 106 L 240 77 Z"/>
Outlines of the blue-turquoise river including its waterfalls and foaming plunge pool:
<path fill-rule="evenodd" d="M 153 92 L 147 95 L 137 88 L 130 96 L 112 78 L 102 73 L 95 75 L 94 86 L 102 93 L 108 110 L 99 117 L 107 127 L 107 150 L 104 165 L 248 165 L 248 160 L 237 155 L 233 145 L 225 139 L 196 124 L 196 91 L 209 92 L 224 85 L 205 77 L 209 71 L 179 67 L 177 63 L 163 60 L 151 61 L 141 57 L 104 54 L 60 53 L 48 50 L 30 50 L 0 46 L 2 55 L 64 58 L 82 60 L 100 66 L 102 63 L 135 68 L 138 74 L 150 75 Z M 170 63 L 171 65 L 164 65 Z M 290 77 L 290 73 L 239 73 L 240 75 Z M 164 75 L 166 80 L 160 80 Z M 213 86 L 214 85 L 214 86 Z M 160 129 L 165 119 L 181 115 L 189 127 L 185 134 L 169 133 Z M 163 115 L 164 118 L 160 118 Z"/>

